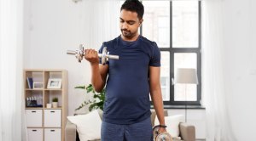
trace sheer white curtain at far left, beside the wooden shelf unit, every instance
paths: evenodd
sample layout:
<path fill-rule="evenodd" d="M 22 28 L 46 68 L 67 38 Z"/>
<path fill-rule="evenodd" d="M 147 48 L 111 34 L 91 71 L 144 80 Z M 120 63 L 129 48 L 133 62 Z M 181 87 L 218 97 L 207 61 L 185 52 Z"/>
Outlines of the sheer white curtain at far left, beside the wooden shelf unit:
<path fill-rule="evenodd" d="M 0 141 L 21 140 L 22 4 L 0 0 Z"/>

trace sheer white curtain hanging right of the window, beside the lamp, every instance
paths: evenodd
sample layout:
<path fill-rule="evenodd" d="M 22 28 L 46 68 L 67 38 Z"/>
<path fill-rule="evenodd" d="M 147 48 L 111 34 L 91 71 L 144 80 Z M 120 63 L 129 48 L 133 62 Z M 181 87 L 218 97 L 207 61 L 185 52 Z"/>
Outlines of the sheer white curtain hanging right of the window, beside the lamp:
<path fill-rule="evenodd" d="M 223 0 L 202 2 L 202 92 L 207 111 L 207 140 L 235 141 L 224 84 Z"/>

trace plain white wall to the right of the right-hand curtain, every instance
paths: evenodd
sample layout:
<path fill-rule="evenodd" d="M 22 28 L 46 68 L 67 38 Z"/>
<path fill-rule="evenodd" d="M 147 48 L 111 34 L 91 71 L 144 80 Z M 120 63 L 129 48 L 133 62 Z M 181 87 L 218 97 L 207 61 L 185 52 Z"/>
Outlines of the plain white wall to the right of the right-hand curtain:
<path fill-rule="evenodd" d="M 256 140 L 256 2 L 224 0 L 225 84 L 238 141 Z"/>

